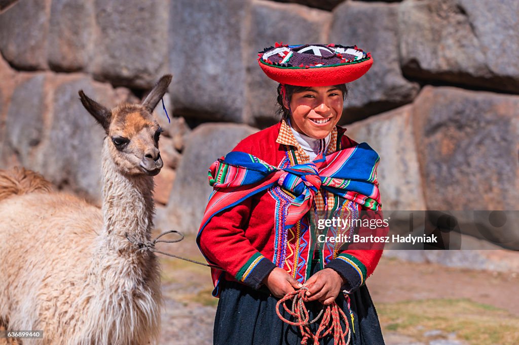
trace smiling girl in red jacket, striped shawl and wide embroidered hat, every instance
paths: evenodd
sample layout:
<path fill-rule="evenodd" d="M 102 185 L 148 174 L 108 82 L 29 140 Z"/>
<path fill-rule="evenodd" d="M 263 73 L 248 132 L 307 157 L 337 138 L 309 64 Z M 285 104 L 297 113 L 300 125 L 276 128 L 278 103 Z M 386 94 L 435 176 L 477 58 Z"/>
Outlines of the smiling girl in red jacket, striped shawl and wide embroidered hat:
<path fill-rule="evenodd" d="M 373 60 L 357 47 L 276 44 L 259 62 L 280 83 L 282 120 L 211 166 L 215 190 L 197 237 L 218 267 L 214 343 L 300 343 L 301 332 L 280 320 L 276 303 L 304 286 L 310 319 L 335 301 L 347 315 L 351 344 L 383 345 L 365 285 L 381 250 L 350 246 L 358 228 L 316 226 L 324 218 L 366 217 L 364 210 L 380 217 L 378 154 L 337 126 L 345 83 Z M 346 240 L 325 240 L 338 235 Z M 332 334 L 321 343 L 333 341 Z"/>

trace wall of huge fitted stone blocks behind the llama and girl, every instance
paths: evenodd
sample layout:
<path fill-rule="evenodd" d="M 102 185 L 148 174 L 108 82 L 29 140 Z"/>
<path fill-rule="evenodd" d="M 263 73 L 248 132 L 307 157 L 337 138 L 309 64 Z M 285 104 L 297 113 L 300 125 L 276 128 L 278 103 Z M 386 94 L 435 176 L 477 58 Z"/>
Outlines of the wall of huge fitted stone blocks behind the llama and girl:
<path fill-rule="evenodd" d="M 112 106 L 172 73 L 158 224 L 194 232 L 209 164 L 278 121 L 257 52 L 336 42 L 374 57 L 343 124 L 381 155 L 385 209 L 516 209 L 518 22 L 516 0 L 0 1 L 0 167 L 99 203 L 103 133 L 77 91 Z"/>

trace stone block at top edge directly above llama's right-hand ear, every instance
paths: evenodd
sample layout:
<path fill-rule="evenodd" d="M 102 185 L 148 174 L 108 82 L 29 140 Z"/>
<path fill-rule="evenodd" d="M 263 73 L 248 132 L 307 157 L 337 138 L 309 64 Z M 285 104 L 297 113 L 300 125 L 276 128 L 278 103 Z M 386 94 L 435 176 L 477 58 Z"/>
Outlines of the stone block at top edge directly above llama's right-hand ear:
<path fill-rule="evenodd" d="M 168 9 L 167 0 L 96 0 L 94 76 L 132 88 L 153 87 L 168 66 Z"/>

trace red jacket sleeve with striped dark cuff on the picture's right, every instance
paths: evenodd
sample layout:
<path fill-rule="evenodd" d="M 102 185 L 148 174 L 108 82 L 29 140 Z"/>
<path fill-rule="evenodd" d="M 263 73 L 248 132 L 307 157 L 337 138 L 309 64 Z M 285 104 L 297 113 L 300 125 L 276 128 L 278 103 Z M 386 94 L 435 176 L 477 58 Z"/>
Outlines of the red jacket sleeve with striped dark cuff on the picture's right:
<path fill-rule="evenodd" d="M 362 223 L 366 224 L 384 224 L 382 211 L 368 211 L 365 208 L 361 209 Z M 377 226 L 372 229 L 369 226 L 360 226 L 360 236 L 386 236 L 389 229 L 387 226 Z M 367 277 L 371 276 L 375 267 L 382 255 L 383 242 L 371 243 L 352 243 L 346 250 L 339 251 L 336 258 L 331 260 L 326 267 L 332 268 L 338 272 L 340 276 L 346 279 L 346 284 L 343 286 L 344 290 L 352 292 L 357 290 Z"/>

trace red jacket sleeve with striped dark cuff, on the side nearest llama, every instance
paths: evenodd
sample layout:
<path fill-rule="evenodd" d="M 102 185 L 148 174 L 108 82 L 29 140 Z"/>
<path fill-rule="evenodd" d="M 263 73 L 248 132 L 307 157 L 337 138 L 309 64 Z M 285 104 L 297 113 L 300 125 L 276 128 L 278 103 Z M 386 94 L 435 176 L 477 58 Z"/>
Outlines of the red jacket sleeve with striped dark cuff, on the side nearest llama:
<path fill-rule="evenodd" d="M 239 282 L 258 289 L 262 280 L 276 267 L 258 252 L 245 237 L 252 198 L 211 218 L 199 235 L 199 247 L 213 264 L 233 275 Z"/>

